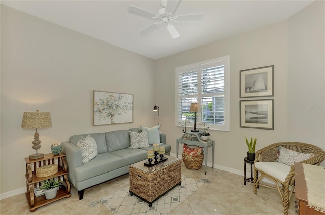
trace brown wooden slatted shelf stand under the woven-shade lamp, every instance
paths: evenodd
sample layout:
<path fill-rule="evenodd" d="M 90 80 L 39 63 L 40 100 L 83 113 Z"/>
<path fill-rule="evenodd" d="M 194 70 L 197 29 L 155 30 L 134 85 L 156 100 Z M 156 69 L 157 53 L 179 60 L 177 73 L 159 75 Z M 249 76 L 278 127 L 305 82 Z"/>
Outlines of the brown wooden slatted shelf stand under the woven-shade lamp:
<path fill-rule="evenodd" d="M 67 163 L 66 163 L 66 155 L 59 154 L 54 155 L 52 153 L 45 154 L 44 157 L 39 159 L 29 159 L 29 157 L 25 158 L 26 162 L 26 197 L 30 206 L 30 211 L 34 212 L 37 208 L 42 207 L 46 204 L 52 203 L 56 200 L 62 199 L 62 198 L 69 198 L 71 196 L 70 193 L 70 183 L 67 178 L 68 169 L 67 169 Z M 56 164 L 58 165 L 58 171 L 56 174 L 52 176 L 42 177 L 39 178 L 36 176 L 36 169 L 41 166 L 50 165 L 50 164 Z M 45 195 L 36 197 L 34 195 L 34 188 L 41 186 L 41 182 L 46 179 L 52 179 L 58 177 L 60 181 L 62 181 L 64 187 L 60 188 L 57 191 L 57 195 L 54 199 L 47 200 L 45 198 Z"/>

